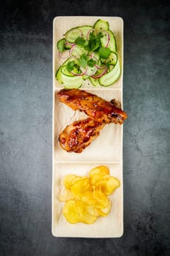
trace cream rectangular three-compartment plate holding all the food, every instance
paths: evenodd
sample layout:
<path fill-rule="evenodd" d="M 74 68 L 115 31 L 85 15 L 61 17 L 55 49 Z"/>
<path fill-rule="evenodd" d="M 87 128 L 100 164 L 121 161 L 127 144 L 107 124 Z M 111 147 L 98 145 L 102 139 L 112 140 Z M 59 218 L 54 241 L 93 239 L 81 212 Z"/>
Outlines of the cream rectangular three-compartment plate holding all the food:
<path fill-rule="evenodd" d="M 123 20 L 119 17 L 70 16 L 56 17 L 53 20 L 53 192 L 52 192 L 52 233 L 53 236 L 116 238 L 123 235 L 123 125 L 109 124 L 101 130 L 93 143 L 81 154 L 67 153 L 58 143 L 59 133 L 73 121 L 85 117 L 80 111 L 73 111 L 58 101 L 57 92 L 63 88 L 56 79 L 55 72 L 62 64 L 58 58 L 56 45 L 69 29 L 75 26 L 91 25 L 99 18 L 109 22 L 109 29 L 115 34 L 117 55 L 120 59 L 120 78 L 109 87 L 94 87 L 89 81 L 81 89 L 90 91 L 104 99 L 117 99 L 123 106 Z M 62 215 L 63 203 L 58 194 L 63 188 L 66 174 L 88 175 L 91 168 L 107 165 L 110 174 L 120 180 L 120 187 L 109 197 L 112 210 L 107 217 L 99 217 L 91 225 L 69 224 Z"/>

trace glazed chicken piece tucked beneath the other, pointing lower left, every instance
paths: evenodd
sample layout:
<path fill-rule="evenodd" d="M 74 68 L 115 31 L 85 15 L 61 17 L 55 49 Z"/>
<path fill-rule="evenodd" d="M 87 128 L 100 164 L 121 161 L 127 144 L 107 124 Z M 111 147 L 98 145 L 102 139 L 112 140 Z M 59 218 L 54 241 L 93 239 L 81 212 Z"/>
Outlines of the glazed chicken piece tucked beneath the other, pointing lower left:
<path fill-rule="evenodd" d="M 95 140 L 100 130 L 104 127 L 92 118 L 86 118 L 80 121 L 74 121 L 68 125 L 59 135 L 61 148 L 67 152 L 81 153 L 83 149 Z"/>

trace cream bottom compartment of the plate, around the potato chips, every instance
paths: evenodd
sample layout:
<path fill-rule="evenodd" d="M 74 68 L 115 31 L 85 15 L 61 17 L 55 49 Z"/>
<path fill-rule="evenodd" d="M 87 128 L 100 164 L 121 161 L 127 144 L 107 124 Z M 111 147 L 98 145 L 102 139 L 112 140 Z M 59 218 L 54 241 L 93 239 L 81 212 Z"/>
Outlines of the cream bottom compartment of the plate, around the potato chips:
<path fill-rule="evenodd" d="M 118 187 L 109 200 L 112 208 L 107 217 L 98 217 L 93 224 L 69 224 L 63 217 L 63 203 L 58 200 L 58 195 L 63 188 L 63 178 L 67 174 L 77 176 L 88 176 L 90 169 L 100 164 L 53 164 L 53 213 L 52 213 L 52 232 L 53 236 L 63 237 L 90 237 L 90 238 L 116 238 L 123 235 L 123 172 L 122 164 L 107 164 L 110 175 L 120 180 Z"/>

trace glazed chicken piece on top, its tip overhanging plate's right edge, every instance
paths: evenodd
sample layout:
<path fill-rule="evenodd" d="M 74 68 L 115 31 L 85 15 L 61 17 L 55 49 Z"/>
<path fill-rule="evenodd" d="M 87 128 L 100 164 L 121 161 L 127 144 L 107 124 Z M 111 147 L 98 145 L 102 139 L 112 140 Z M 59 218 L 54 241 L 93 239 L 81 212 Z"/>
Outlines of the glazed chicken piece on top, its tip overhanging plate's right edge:
<path fill-rule="evenodd" d="M 58 91 L 58 99 L 73 110 L 85 112 L 90 118 L 101 124 L 123 124 L 128 117 L 123 110 L 115 107 L 111 102 L 88 91 L 62 89 Z"/>

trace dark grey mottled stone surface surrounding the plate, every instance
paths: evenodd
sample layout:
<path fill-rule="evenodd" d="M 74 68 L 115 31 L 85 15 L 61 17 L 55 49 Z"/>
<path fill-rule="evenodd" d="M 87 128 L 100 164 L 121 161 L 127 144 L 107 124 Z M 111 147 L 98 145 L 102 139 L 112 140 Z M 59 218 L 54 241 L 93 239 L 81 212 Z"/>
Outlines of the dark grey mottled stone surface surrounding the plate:
<path fill-rule="evenodd" d="M 170 255 L 169 1 L 3 1 L 0 13 L 0 255 Z M 124 20 L 124 234 L 51 234 L 52 25 Z"/>

